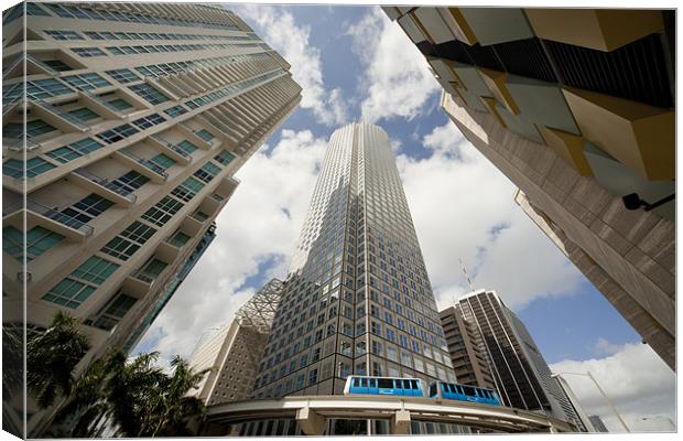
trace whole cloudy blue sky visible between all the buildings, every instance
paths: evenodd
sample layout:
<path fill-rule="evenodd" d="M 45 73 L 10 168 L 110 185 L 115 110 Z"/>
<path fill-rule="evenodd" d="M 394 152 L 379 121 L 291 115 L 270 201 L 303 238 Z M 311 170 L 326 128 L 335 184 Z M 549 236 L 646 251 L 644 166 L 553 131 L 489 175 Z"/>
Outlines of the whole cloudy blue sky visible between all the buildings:
<path fill-rule="evenodd" d="M 440 308 L 469 290 L 462 258 L 475 288 L 497 290 L 518 312 L 551 367 L 589 367 L 615 391 L 624 388 L 609 384 L 621 378 L 617 372 L 633 381 L 653 377 L 647 392 L 659 398 L 647 415 L 673 415 L 671 370 L 514 204 L 514 185 L 449 122 L 426 62 L 395 23 L 378 8 L 229 9 L 292 64 L 302 104 L 237 173 L 241 184 L 218 217 L 218 237 L 138 351 L 189 356 L 205 330 L 229 322 L 271 277 L 285 277 L 326 140 L 346 122 L 367 120 L 392 140 Z M 593 411 L 609 413 L 590 387 L 572 387 Z M 648 430 L 631 402 L 642 394 L 624 390 L 620 406 Z M 609 417 L 606 423 L 615 424 Z"/>

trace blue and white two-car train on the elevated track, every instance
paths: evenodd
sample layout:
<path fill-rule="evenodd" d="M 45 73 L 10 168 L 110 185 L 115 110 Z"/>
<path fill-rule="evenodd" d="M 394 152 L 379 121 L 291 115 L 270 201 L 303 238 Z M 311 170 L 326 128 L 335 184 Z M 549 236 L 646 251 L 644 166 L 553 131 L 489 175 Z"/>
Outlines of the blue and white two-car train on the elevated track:
<path fill-rule="evenodd" d="M 427 397 L 501 406 L 495 390 L 483 387 L 435 381 L 429 389 L 420 378 L 349 376 L 344 395 L 393 395 L 401 397 Z"/>

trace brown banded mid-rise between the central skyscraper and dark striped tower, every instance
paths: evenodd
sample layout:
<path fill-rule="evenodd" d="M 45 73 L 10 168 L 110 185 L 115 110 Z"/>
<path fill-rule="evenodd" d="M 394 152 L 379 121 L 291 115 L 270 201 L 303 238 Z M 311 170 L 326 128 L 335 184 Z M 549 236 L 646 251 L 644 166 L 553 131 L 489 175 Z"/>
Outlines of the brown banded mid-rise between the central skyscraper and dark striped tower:
<path fill-rule="evenodd" d="M 441 311 L 438 316 L 448 344 L 457 383 L 496 389 L 486 346 L 475 324 L 463 316 L 457 305 Z"/>

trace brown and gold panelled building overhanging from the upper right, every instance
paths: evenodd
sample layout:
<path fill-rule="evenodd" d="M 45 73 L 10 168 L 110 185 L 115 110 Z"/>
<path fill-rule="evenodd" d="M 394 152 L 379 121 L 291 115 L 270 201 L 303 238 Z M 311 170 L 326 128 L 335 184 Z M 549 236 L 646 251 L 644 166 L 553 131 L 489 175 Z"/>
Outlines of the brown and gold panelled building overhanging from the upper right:
<path fill-rule="evenodd" d="M 673 369 L 674 11 L 384 11 L 453 122 Z"/>

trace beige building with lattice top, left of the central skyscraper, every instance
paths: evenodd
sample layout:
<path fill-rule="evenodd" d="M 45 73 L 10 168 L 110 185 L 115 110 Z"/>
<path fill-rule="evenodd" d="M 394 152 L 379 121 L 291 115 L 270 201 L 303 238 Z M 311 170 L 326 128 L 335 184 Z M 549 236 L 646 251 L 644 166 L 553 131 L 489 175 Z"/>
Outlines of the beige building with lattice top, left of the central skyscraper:
<path fill-rule="evenodd" d="M 198 344 L 192 355 L 193 369 L 212 369 L 195 392 L 205 405 L 249 398 L 280 303 L 282 286 L 278 279 L 269 281 L 235 313 L 229 325 Z"/>

